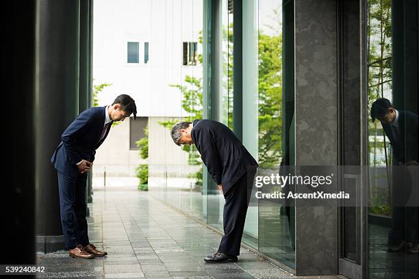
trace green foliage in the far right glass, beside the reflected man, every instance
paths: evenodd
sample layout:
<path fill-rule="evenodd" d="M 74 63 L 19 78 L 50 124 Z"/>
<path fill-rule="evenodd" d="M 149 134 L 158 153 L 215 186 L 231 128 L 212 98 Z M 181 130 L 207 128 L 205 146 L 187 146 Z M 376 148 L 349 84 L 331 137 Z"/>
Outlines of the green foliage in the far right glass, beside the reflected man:
<path fill-rule="evenodd" d="M 392 12 L 391 0 L 368 1 L 368 110 L 377 98 L 388 98 L 392 101 Z M 368 111 L 370 115 L 370 111 Z M 368 121 L 368 153 L 370 165 L 391 165 L 391 150 L 388 140 L 384 142 L 381 122 Z M 388 160 L 386 161 L 386 153 Z M 391 215 L 390 189 L 383 191 L 379 185 L 377 172 L 371 172 L 370 179 L 370 212 Z M 390 185 L 390 174 L 387 174 Z M 381 180 L 382 181 L 382 180 Z M 379 204 L 379 205 L 377 205 Z"/>

